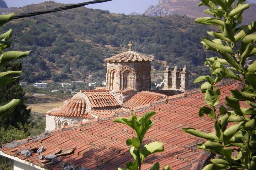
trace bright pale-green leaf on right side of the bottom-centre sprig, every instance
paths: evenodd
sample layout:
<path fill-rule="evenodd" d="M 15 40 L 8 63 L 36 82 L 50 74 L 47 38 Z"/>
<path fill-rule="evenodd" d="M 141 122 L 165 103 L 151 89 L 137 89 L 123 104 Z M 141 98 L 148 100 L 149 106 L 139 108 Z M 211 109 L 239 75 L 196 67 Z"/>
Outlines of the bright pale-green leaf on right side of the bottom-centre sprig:
<path fill-rule="evenodd" d="M 155 152 L 162 152 L 164 151 L 164 146 L 160 142 L 151 142 L 142 147 L 140 151 L 141 160 L 143 161 L 149 155 Z"/>

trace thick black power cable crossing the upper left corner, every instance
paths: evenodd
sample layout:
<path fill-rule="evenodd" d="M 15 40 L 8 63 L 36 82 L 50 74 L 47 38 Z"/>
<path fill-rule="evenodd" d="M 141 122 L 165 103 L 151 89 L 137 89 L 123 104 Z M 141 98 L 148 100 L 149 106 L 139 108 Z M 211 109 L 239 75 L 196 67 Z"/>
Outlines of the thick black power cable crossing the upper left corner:
<path fill-rule="evenodd" d="M 54 8 L 52 10 L 47 10 L 47 11 L 39 11 L 39 12 L 31 12 L 31 13 L 20 14 L 20 15 L 14 16 L 14 19 L 32 17 L 32 16 L 37 16 L 37 15 L 42 15 L 42 14 L 45 14 L 45 13 L 52 13 L 52 12 L 57 12 L 57 11 L 70 10 L 70 9 L 78 8 L 78 7 L 85 6 L 85 5 L 98 4 L 98 3 L 102 3 L 102 2 L 108 2 L 108 1 L 113 1 L 113 0 L 94 0 L 94 1 L 89 1 L 89 2 L 82 2 L 82 3 L 79 3 L 79 4 L 58 7 L 58 8 Z"/>

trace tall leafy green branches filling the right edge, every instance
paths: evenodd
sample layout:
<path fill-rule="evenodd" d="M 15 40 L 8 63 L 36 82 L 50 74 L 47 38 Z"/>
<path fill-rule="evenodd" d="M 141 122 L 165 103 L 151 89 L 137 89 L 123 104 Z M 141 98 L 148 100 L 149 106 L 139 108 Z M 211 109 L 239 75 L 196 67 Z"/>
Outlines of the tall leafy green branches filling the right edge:
<path fill-rule="evenodd" d="M 203 75 L 194 83 L 206 81 L 201 85 L 205 93 L 204 101 L 208 106 L 199 110 L 199 116 L 204 114 L 214 119 L 215 131 L 203 133 L 193 128 L 183 131 L 207 140 L 198 144 L 198 148 L 216 153 L 219 156 L 211 159 L 211 164 L 203 170 L 219 169 L 256 169 L 256 61 L 249 67 L 246 59 L 256 55 L 256 21 L 240 26 L 242 13 L 249 8 L 243 4 L 245 0 L 201 0 L 199 6 L 209 9 L 205 13 L 212 17 L 202 17 L 195 21 L 200 24 L 218 26 L 219 31 L 207 32 L 212 38 L 204 37 L 202 44 L 207 50 L 219 53 L 218 57 L 206 58 L 205 65 L 210 69 L 210 75 Z M 230 67 L 230 69 L 228 69 Z M 243 85 L 241 91 L 230 90 L 230 97 L 225 98 L 225 106 L 219 103 L 220 90 L 217 83 L 229 78 Z M 245 101 L 246 107 L 240 102 Z M 228 126 L 228 123 L 233 125 Z M 237 156 L 233 156 L 234 147 L 238 147 Z"/>

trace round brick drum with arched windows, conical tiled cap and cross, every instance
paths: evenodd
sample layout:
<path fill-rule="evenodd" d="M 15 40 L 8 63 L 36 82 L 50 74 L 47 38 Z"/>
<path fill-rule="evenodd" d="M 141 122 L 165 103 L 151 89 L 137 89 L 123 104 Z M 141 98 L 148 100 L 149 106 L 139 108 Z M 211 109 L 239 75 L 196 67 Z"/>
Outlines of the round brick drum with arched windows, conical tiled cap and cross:
<path fill-rule="evenodd" d="M 106 58 L 106 89 L 108 90 L 150 90 L 150 70 L 153 58 L 132 50 Z"/>

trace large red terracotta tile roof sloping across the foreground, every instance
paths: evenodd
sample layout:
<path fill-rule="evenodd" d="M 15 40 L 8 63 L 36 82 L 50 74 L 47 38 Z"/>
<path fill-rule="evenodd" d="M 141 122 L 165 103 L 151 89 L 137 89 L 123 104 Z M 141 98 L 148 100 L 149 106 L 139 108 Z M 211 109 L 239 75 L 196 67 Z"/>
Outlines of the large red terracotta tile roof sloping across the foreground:
<path fill-rule="evenodd" d="M 233 85 L 221 87 L 223 96 L 228 96 L 228 89 Z M 143 94 L 143 93 L 142 93 Z M 211 132 L 213 120 L 208 117 L 199 117 L 199 107 L 204 105 L 204 94 L 191 94 L 178 100 L 170 100 L 157 106 L 151 106 L 145 111 L 135 112 L 142 116 L 145 112 L 157 112 L 151 119 L 154 125 L 145 134 L 144 143 L 159 141 L 163 142 L 165 151 L 151 155 L 145 159 L 142 169 L 149 169 L 154 162 L 160 163 L 162 169 L 166 164 L 172 170 L 190 170 L 193 163 L 198 162 L 199 151 L 196 143 L 204 140 L 182 131 L 181 128 L 193 127 L 199 131 Z M 220 101 L 221 103 L 224 100 Z M 130 115 L 123 115 L 130 117 Z M 128 152 L 126 140 L 134 136 L 134 132 L 127 125 L 114 123 L 110 120 L 100 120 L 93 124 L 53 132 L 50 136 L 41 140 L 28 140 L 27 143 L 15 148 L 5 147 L 0 150 L 6 154 L 26 160 L 47 169 L 59 169 L 59 164 L 47 165 L 40 163 L 38 154 L 25 158 L 17 154 L 18 149 L 30 146 L 39 148 L 44 146 L 43 154 L 57 153 L 60 149 L 74 148 L 74 153 L 58 157 L 61 161 L 70 162 L 91 169 L 112 170 L 117 167 L 125 167 L 127 161 L 132 161 Z"/>

